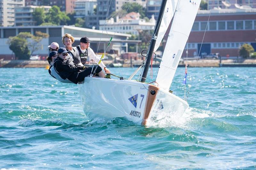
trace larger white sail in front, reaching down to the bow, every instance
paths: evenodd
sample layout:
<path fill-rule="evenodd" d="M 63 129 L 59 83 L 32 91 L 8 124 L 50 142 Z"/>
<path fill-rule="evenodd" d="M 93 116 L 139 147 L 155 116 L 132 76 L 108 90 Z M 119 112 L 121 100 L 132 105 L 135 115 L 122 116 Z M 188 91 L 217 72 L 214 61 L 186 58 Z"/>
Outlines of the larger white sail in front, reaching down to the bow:
<path fill-rule="evenodd" d="M 168 91 L 188 40 L 201 0 L 180 0 L 172 19 L 172 26 L 164 49 L 156 82 Z"/>

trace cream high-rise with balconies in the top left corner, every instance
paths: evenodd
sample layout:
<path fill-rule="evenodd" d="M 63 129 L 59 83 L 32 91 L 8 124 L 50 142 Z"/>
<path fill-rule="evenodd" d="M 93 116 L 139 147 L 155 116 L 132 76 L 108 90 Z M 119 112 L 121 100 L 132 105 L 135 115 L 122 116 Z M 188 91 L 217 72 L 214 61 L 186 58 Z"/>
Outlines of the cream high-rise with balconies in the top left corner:
<path fill-rule="evenodd" d="M 0 0 L 0 26 L 14 26 L 14 8 L 25 5 L 25 0 Z"/>

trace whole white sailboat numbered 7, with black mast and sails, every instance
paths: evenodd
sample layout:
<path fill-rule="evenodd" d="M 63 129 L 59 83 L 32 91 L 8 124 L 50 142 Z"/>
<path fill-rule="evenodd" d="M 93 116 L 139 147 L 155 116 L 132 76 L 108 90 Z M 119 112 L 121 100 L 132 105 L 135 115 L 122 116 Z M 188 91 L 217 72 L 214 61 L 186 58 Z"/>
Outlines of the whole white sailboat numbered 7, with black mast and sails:
<path fill-rule="evenodd" d="M 201 0 L 163 0 L 140 81 L 86 77 L 78 85 L 84 113 L 89 119 L 125 117 L 150 126 L 160 113 L 183 114 L 189 107 L 169 88 L 196 18 Z M 171 23 L 162 61 L 154 83 L 145 83 L 153 52 Z"/>

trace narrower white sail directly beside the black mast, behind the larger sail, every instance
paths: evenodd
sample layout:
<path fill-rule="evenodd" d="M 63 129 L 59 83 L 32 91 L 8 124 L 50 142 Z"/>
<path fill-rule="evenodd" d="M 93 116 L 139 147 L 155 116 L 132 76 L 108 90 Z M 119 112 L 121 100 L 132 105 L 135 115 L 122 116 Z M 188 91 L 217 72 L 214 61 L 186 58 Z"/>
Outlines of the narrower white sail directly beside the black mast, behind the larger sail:
<path fill-rule="evenodd" d="M 157 50 L 157 48 L 160 46 L 161 41 L 164 38 L 164 34 L 168 28 L 168 26 L 171 23 L 173 14 L 175 12 L 175 8 L 177 6 L 178 0 L 167 0 L 165 8 L 164 8 L 164 14 L 162 18 L 162 22 L 159 28 L 158 36 L 156 38 L 156 45 L 154 48 L 154 52 Z"/>

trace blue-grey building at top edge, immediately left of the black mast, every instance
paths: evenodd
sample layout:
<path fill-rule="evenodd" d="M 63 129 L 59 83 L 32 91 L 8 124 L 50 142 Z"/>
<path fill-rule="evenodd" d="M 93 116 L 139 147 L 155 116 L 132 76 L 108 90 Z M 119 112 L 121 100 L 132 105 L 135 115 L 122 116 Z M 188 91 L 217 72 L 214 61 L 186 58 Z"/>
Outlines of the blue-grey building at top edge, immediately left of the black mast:
<path fill-rule="evenodd" d="M 147 17 L 150 18 L 152 15 L 158 18 L 159 9 L 161 6 L 161 0 L 148 0 L 147 1 Z"/>

